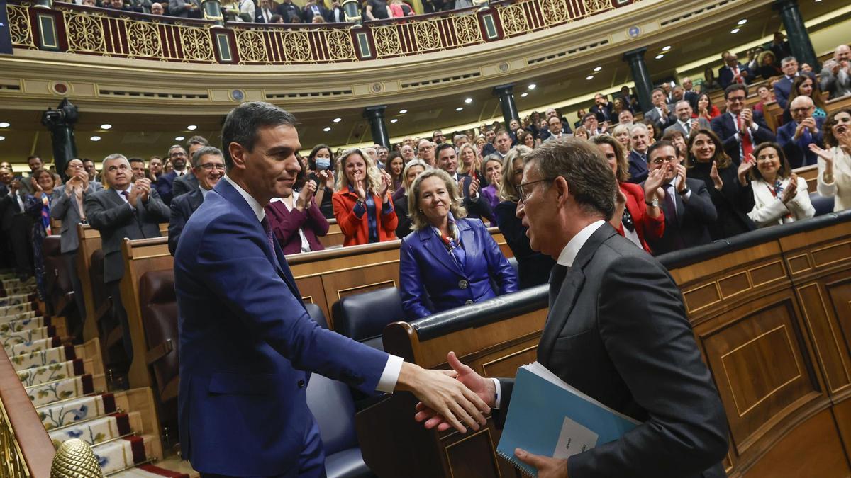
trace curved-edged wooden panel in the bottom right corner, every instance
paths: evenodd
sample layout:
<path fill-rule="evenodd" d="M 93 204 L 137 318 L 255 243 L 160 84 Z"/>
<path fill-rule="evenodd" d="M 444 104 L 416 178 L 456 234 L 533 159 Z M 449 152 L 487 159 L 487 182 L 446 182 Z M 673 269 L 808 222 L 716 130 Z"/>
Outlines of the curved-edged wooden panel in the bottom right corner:
<path fill-rule="evenodd" d="M 837 427 L 831 411 L 825 410 L 792 429 L 744 475 L 748 478 L 838 478 L 849 474 L 851 469 L 842 452 Z"/>

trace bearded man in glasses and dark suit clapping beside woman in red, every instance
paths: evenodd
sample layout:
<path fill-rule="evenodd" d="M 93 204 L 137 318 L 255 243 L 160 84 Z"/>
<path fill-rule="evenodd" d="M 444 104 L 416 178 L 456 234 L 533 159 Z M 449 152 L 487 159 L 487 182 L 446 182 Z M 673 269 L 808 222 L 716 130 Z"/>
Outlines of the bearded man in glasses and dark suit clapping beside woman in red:
<path fill-rule="evenodd" d="M 700 179 L 687 177 L 680 164 L 677 147 L 669 141 L 658 141 L 648 149 L 648 168 L 665 168 L 665 200 L 657 204 L 665 213 L 665 233 L 658 241 L 648 238 L 654 253 L 670 253 L 712 241 L 707 224 L 717 219 L 717 211 L 706 185 Z"/>

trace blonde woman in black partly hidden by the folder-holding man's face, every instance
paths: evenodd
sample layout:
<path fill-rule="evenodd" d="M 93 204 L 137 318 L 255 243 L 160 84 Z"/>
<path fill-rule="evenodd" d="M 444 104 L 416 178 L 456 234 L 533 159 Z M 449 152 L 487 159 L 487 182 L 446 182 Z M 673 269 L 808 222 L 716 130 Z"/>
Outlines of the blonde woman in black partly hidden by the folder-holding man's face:
<path fill-rule="evenodd" d="M 545 283 L 550 277 L 552 266 L 556 264 L 550 256 L 532 250 L 526 236 L 528 227 L 517 219 L 517 185 L 523 179 L 523 162 L 530 152 L 532 148 L 515 146 L 503 158 L 500 203 L 494 208 L 496 225 L 502 236 L 505 236 L 514 259 L 517 259 L 521 289 Z"/>

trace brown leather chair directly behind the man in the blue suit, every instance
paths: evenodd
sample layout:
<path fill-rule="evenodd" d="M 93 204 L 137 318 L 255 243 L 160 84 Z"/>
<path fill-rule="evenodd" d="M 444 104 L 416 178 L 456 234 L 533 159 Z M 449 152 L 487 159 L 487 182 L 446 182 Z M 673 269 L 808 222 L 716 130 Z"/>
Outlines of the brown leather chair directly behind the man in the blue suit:
<path fill-rule="evenodd" d="M 163 423 L 177 419 L 177 392 L 180 383 L 177 330 L 177 296 L 174 270 L 151 270 L 139 281 L 142 327 L 147 343 L 146 360 L 156 382 Z"/>

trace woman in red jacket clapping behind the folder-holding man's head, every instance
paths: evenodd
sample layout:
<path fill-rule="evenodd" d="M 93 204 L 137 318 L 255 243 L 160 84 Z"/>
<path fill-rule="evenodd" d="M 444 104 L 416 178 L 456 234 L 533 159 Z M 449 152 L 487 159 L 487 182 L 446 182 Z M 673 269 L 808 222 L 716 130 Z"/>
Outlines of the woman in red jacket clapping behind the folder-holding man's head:
<path fill-rule="evenodd" d="M 618 140 L 608 134 L 601 134 L 591 141 L 603 153 L 620 185 L 620 195 L 615 203 L 612 225 L 621 236 L 635 242 L 639 248 L 643 248 L 648 253 L 653 253 L 646 238 L 660 239 L 665 232 L 665 215 L 659 207 L 660 200 L 657 199 L 664 198 L 664 193 L 659 191 L 665 179 L 665 175 L 662 174 L 665 168 L 656 169 L 648 174 L 642 185 L 634 185 L 628 182 L 629 163 L 623 146 Z"/>

